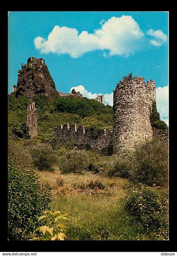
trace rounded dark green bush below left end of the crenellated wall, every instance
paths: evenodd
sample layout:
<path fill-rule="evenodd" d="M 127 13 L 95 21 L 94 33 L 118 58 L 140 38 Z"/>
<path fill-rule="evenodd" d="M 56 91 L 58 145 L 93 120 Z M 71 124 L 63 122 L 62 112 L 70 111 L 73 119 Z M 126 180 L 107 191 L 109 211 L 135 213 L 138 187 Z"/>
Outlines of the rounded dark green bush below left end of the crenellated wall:
<path fill-rule="evenodd" d="M 52 170 L 52 166 L 56 163 L 56 154 L 51 146 L 39 144 L 32 148 L 33 164 L 38 170 Z"/>

